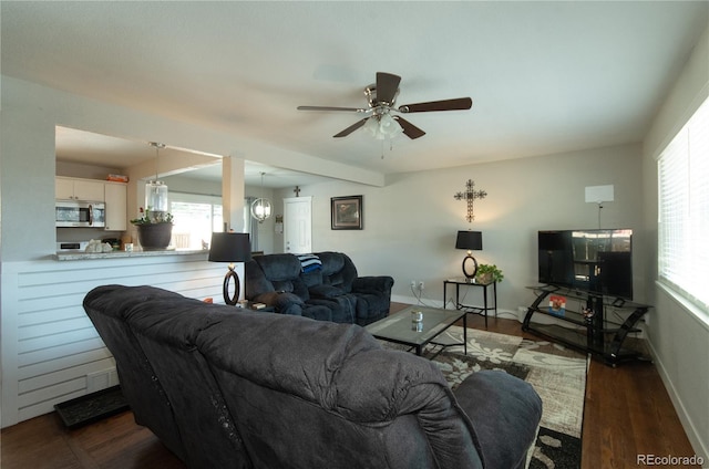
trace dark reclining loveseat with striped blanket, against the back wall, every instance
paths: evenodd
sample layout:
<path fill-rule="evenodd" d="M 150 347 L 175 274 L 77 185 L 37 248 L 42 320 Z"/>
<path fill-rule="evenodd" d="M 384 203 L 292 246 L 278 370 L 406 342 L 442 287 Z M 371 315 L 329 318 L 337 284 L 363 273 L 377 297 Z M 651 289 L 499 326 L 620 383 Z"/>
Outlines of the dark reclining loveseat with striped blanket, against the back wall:
<path fill-rule="evenodd" d="M 244 267 L 244 296 L 277 313 L 338 323 L 367 325 L 389 314 L 391 277 L 359 277 L 342 252 L 311 256 L 309 268 L 295 254 L 254 257 Z"/>

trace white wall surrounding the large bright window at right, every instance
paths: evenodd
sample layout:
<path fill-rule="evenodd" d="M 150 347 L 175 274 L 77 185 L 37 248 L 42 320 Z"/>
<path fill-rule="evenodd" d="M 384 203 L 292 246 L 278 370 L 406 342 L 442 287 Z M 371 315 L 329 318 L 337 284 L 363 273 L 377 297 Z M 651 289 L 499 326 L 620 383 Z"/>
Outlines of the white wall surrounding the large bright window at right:
<path fill-rule="evenodd" d="M 695 48 L 644 142 L 643 198 L 650 249 L 646 269 L 648 298 L 655 305 L 647 324 L 655 363 L 693 449 L 709 460 L 709 317 L 684 304 L 655 282 L 657 278 L 657 161 L 697 107 L 709 96 L 709 28 Z M 709 175 L 707 175 L 709 177 Z M 703 315 L 703 320 L 698 317 Z"/>

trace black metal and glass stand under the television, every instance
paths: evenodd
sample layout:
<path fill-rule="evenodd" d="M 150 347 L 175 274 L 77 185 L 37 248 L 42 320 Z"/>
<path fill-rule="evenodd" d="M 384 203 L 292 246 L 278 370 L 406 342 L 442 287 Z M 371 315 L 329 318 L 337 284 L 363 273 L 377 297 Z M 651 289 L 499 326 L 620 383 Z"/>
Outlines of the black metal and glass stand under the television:
<path fill-rule="evenodd" d="M 639 332 L 637 322 L 651 308 L 621 299 L 604 296 L 579 289 L 553 285 L 527 286 L 536 299 L 527 308 L 522 330 L 542 335 L 569 347 L 590 353 L 606 365 L 616 366 L 626 359 L 646 359 L 633 350 L 623 348 L 623 342 L 630 332 Z M 552 296 L 565 304 L 552 306 Z M 608 321 L 608 311 L 630 312 L 623 323 Z M 532 316 L 542 314 L 568 324 L 542 324 L 532 322 Z"/>

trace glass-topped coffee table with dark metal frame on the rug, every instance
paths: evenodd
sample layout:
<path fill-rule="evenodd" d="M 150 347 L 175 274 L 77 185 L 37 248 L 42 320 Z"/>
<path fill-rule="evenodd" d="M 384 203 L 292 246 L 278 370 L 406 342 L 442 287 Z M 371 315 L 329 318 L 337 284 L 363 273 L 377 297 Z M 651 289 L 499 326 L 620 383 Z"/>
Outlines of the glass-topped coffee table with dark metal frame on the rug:
<path fill-rule="evenodd" d="M 409 306 L 403 311 L 384 317 L 383 320 L 368 324 L 364 329 L 374 337 L 382 341 L 408 345 L 415 348 L 417 355 L 421 355 L 423 347 L 428 344 L 440 345 L 441 351 L 451 345 L 463 345 L 465 355 L 467 355 L 466 315 L 467 314 L 461 310 Z M 421 321 L 415 321 L 419 317 Z M 446 344 L 434 341 L 443 331 L 460 320 L 463 320 L 462 344 Z M 441 353 L 441 351 L 436 352 L 435 355 Z"/>

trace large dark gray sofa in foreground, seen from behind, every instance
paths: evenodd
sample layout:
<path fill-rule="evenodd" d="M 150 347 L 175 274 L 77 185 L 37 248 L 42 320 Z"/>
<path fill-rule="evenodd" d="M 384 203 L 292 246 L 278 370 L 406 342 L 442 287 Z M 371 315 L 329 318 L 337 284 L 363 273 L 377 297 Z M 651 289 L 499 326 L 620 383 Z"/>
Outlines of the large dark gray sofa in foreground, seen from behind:
<path fill-rule="evenodd" d="M 191 468 L 514 469 L 535 439 L 525 382 L 479 372 L 453 393 L 359 325 L 151 286 L 99 286 L 84 309 L 136 423 Z"/>

